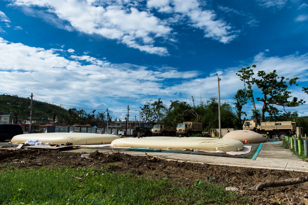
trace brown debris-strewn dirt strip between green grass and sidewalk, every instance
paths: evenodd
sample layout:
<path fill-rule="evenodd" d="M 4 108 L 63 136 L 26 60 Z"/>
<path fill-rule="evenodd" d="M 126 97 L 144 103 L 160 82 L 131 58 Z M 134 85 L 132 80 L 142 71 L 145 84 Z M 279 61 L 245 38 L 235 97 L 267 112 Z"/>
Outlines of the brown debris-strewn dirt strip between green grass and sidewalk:
<path fill-rule="evenodd" d="M 166 177 L 185 187 L 192 187 L 199 179 L 210 179 L 212 183 L 223 187 L 236 187 L 239 193 L 246 196 L 246 204 L 308 204 L 308 182 L 284 187 L 267 187 L 262 191 L 248 190 L 261 182 L 305 177 L 308 173 L 168 161 L 153 157 L 152 153 L 133 156 L 117 151 L 110 151 L 108 154 L 96 151 L 89 157 L 81 158 L 82 154 L 84 153 L 39 149 L 0 149 L 0 171 L 5 171 L 8 165 L 16 169 L 104 166 L 107 170 L 119 174 L 131 172 L 136 175 Z"/>

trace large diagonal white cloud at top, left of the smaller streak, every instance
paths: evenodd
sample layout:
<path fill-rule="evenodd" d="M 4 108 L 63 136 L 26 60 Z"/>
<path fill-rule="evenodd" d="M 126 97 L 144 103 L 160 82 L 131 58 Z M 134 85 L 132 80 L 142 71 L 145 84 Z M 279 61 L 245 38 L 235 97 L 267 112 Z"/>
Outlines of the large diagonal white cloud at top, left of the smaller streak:
<path fill-rule="evenodd" d="M 131 5 L 126 7 L 124 2 L 122 5 L 119 2 L 101 2 L 99 5 L 91 1 L 62 0 L 25 0 L 13 3 L 23 6 L 25 13 L 43 18 L 58 28 L 69 31 L 74 28 L 87 34 L 116 39 L 128 47 L 148 53 L 168 54 L 165 47 L 154 46 L 154 42 L 156 38 L 167 39 L 172 29 L 153 14 L 137 10 Z M 45 10 L 34 10 L 32 7 L 35 6 Z"/>

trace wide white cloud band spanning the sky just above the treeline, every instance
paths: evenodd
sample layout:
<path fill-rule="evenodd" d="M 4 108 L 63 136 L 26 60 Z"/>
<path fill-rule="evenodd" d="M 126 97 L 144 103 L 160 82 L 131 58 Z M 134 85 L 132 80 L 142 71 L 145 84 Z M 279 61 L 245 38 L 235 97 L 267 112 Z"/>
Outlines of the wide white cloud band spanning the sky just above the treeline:
<path fill-rule="evenodd" d="M 152 96 L 160 96 L 164 102 L 170 99 L 185 100 L 187 96 L 201 95 L 203 100 L 217 97 L 215 73 L 221 78 L 221 99 L 232 99 L 238 89 L 243 89 L 243 83 L 236 76 L 237 71 L 252 64 L 257 65 L 255 73 L 258 70 L 266 73 L 277 70 L 278 76 L 300 76 L 298 82 L 302 86 L 306 86 L 308 81 L 308 54 L 279 57 L 259 53 L 245 65 L 202 75 L 198 70 L 183 72 L 173 67 L 114 64 L 104 58 L 98 59 L 86 54 L 65 58 L 62 52 L 67 51 L 45 50 L 0 38 L 0 74 L 2 83 L 6 85 L 3 91 L 34 93 L 43 99 L 67 101 L 78 107 L 98 107 L 110 103 L 113 107 L 126 107 L 128 102 L 142 107 L 142 103 L 152 99 Z M 301 85 L 292 86 L 294 96 L 301 93 Z M 308 95 L 300 97 L 308 98 Z M 128 102 L 121 104 L 118 99 L 126 99 Z"/>

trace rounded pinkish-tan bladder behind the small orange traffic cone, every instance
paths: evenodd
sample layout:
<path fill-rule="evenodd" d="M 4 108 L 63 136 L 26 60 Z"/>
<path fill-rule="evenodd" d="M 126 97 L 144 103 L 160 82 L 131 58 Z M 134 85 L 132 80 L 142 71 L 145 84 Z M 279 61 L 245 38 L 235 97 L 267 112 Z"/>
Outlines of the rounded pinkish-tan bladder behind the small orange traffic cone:
<path fill-rule="evenodd" d="M 245 143 L 247 139 L 248 143 L 262 143 L 265 142 L 265 138 L 251 130 L 235 130 L 224 135 L 223 139 L 237 139 L 242 143 Z"/>

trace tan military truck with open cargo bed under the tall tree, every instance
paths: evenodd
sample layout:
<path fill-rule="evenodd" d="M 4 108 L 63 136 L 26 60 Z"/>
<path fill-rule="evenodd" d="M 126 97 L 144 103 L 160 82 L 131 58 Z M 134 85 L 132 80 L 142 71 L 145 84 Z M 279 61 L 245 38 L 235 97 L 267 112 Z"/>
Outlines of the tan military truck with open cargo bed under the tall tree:
<path fill-rule="evenodd" d="M 269 135 L 270 138 L 285 137 L 296 135 L 296 130 L 302 130 L 297 128 L 295 122 L 282 121 L 282 122 L 261 122 L 258 123 L 256 119 L 245 120 L 243 130 L 252 130 L 263 136 Z"/>

